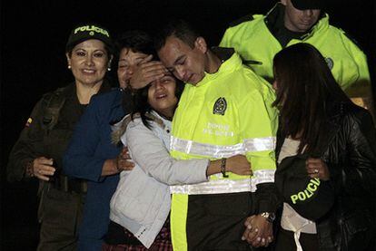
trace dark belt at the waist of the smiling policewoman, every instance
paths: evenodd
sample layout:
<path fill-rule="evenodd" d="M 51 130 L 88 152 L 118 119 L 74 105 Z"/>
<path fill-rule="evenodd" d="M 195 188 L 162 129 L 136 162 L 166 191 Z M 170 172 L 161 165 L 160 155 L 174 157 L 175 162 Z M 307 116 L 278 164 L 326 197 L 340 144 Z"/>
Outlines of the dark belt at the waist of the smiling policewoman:
<path fill-rule="evenodd" d="M 87 182 L 84 179 L 71 179 L 63 174 L 56 175 L 51 180 L 53 188 L 64 192 L 84 194 L 87 192 Z"/>

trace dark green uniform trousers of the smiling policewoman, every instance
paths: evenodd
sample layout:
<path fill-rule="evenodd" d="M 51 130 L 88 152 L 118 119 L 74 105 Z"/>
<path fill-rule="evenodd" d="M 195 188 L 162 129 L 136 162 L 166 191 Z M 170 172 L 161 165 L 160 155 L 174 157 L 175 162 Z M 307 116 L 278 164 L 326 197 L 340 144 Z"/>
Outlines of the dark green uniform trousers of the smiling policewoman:
<path fill-rule="evenodd" d="M 55 188 L 41 198 L 38 251 L 76 250 L 78 227 L 82 219 L 84 195 Z"/>

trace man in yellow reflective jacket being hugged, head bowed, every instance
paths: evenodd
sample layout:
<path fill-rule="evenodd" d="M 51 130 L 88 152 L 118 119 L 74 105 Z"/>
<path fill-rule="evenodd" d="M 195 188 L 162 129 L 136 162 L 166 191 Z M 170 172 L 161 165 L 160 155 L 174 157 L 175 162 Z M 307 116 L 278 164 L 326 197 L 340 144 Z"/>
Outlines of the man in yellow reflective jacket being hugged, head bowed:
<path fill-rule="evenodd" d="M 223 159 L 221 175 L 171 188 L 173 250 L 267 246 L 277 207 L 271 85 L 233 49 L 210 50 L 182 20 L 167 24 L 155 45 L 166 68 L 187 83 L 173 117 L 172 156 Z M 252 177 L 226 173 L 225 159 L 236 154 L 246 155 Z"/>

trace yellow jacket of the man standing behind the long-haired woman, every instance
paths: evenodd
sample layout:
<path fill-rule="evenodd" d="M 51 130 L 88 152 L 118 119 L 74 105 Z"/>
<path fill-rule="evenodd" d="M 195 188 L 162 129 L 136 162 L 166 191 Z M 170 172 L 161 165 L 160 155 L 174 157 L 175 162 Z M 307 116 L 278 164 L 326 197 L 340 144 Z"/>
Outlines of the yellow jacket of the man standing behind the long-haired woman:
<path fill-rule="evenodd" d="M 268 16 L 280 11 L 282 5 L 267 14 L 254 14 L 248 21 L 229 27 L 220 43 L 222 47 L 233 47 L 254 72 L 272 81 L 272 59 L 282 50 L 281 43 L 268 28 Z M 367 109 L 373 109 L 370 72 L 367 58 L 361 49 L 339 28 L 329 24 L 329 15 L 313 25 L 302 39 L 292 39 L 287 46 L 295 43 L 311 43 L 324 56 L 335 80 L 352 101 Z"/>

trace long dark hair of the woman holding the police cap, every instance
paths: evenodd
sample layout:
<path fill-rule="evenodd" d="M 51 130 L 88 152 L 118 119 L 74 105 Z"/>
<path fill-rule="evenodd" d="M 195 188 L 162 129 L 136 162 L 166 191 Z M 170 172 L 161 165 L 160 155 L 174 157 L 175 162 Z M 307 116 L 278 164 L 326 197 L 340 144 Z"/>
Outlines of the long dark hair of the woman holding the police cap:
<path fill-rule="evenodd" d="M 280 110 L 282 135 L 301 140 L 299 153 L 317 153 L 327 137 L 330 111 L 341 102 L 351 103 L 334 80 L 322 54 L 309 43 L 297 43 L 273 59 L 278 84 L 273 102 Z"/>

